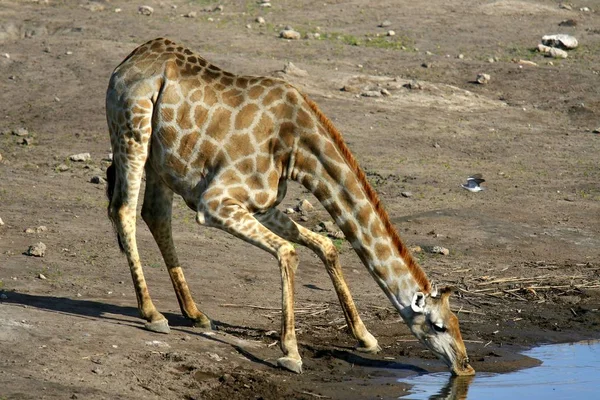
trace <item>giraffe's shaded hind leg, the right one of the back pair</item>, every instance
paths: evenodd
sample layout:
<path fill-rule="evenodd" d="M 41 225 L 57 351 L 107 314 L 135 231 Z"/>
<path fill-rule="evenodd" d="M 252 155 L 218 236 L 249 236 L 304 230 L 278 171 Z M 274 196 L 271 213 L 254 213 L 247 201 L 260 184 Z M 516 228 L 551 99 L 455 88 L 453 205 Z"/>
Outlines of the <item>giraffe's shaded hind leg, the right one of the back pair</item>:
<path fill-rule="evenodd" d="M 163 256 L 182 314 L 192 320 L 197 327 L 211 328 L 208 317 L 196 307 L 179 264 L 173 244 L 172 210 L 173 191 L 162 181 L 154 169 L 146 164 L 146 189 L 142 218 L 148 225 Z"/>

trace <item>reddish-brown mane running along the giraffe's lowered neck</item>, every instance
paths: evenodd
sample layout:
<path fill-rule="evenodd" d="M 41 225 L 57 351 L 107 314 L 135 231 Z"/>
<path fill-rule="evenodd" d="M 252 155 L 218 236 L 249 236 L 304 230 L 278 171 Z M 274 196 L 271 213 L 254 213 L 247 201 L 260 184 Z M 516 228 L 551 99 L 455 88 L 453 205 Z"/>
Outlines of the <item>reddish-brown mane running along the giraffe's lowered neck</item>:
<path fill-rule="evenodd" d="M 358 165 L 358 162 L 356 161 L 354 155 L 348 148 L 348 145 L 346 145 L 346 143 L 344 142 L 342 134 L 337 130 L 337 128 L 333 125 L 329 118 L 327 118 L 327 116 L 323 114 L 323 112 L 319 109 L 315 102 L 309 99 L 308 96 L 305 94 L 302 94 L 302 96 L 304 97 L 304 100 L 308 103 L 310 108 L 313 110 L 313 112 L 319 118 L 319 122 L 321 122 L 321 124 L 325 127 L 327 132 L 329 132 L 329 134 L 331 135 L 331 138 L 333 139 L 337 148 L 340 150 L 348 166 L 352 169 L 352 171 L 354 171 L 354 173 L 358 177 L 358 180 L 360 181 L 362 188 L 367 195 L 367 198 L 369 199 L 369 201 L 375 208 L 375 212 L 383 222 L 385 230 L 392 238 L 392 242 L 394 243 L 394 246 L 398 249 L 400 257 L 406 263 L 409 272 L 412 274 L 413 278 L 415 279 L 421 290 L 423 290 L 423 292 L 425 293 L 430 293 L 431 283 L 429 282 L 427 275 L 425 274 L 423 269 L 417 264 L 415 258 L 410 254 L 408 247 L 406 247 L 406 245 L 402 242 L 402 239 L 400 239 L 400 235 L 398 234 L 396 228 L 392 225 L 390 217 L 388 216 L 388 213 L 385 210 L 385 208 L 383 208 L 383 204 L 381 203 L 377 192 L 375 191 L 375 189 L 373 189 L 373 186 L 371 186 L 371 184 L 367 180 L 367 175 Z"/>

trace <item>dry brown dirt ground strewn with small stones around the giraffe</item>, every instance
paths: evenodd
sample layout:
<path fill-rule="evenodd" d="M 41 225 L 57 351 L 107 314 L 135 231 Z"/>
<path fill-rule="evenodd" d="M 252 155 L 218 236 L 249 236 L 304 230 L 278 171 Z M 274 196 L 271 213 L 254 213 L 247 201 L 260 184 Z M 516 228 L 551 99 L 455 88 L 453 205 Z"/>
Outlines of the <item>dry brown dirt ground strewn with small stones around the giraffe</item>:
<path fill-rule="evenodd" d="M 138 14 L 141 4 L 154 14 Z M 533 365 L 518 351 L 600 337 L 597 2 L 574 0 L 569 10 L 555 0 L 274 0 L 271 8 L 225 0 L 210 12 L 218 4 L 0 1 L 0 399 L 398 397 L 406 387 L 396 377 L 444 370 L 343 241 L 347 280 L 383 351 L 353 351 L 324 268 L 301 249 L 304 374 L 276 369 L 275 260 L 196 225 L 179 200 L 176 245 L 216 330 L 180 316 L 139 221 L 150 291 L 172 332 L 143 329 L 104 186 L 90 179 L 108 165 L 111 71 L 159 36 L 235 73 L 270 74 L 288 61 L 307 71 L 281 76 L 343 132 L 401 236 L 425 249 L 416 256 L 430 278 L 458 288 L 452 304 L 475 369 Z M 378 27 L 384 20 L 391 25 Z M 320 37 L 279 39 L 285 25 Z M 390 29 L 396 35 L 386 37 Z M 557 32 L 579 39 L 569 58 L 532 51 Z M 480 72 L 488 84 L 474 83 Z M 390 96 L 360 95 L 382 88 Z M 21 127 L 29 144 L 11 133 Z M 81 152 L 91 160 L 69 161 Z M 460 188 L 473 173 L 484 175 L 485 191 Z M 282 207 L 304 198 L 316 203 L 292 185 Z M 308 217 L 310 228 L 328 219 L 320 207 Z M 25 232 L 39 226 L 47 230 Z M 45 257 L 23 254 L 39 241 Z M 435 245 L 450 254 L 428 253 Z"/>

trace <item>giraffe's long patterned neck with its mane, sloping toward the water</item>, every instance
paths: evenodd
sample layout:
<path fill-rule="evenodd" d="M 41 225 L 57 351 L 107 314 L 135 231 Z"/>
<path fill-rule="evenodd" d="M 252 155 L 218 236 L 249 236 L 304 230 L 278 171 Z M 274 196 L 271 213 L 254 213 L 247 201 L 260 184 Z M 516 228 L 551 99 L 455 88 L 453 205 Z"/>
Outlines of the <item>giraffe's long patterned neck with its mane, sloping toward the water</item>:
<path fill-rule="evenodd" d="M 392 304 L 402 311 L 416 292 L 431 292 L 431 284 L 340 133 L 312 101 L 305 100 L 319 128 L 314 137 L 300 140 L 292 179 L 319 199 Z"/>

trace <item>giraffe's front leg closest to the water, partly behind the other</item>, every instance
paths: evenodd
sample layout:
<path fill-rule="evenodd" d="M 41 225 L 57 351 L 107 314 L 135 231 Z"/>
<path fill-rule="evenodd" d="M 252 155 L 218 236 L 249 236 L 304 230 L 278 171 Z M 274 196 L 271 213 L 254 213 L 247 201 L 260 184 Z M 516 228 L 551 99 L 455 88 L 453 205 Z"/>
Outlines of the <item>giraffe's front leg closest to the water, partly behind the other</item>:
<path fill-rule="evenodd" d="M 306 246 L 315 252 L 325 264 L 327 273 L 333 282 L 346 323 L 352 335 L 358 340 L 357 350 L 366 353 L 376 353 L 381 350 L 377 339 L 367 330 L 362 322 L 350 289 L 344 280 L 338 252 L 330 239 L 314 233 L 297 224 L 287 215 L 276 208 L 260 217 L 260 222 L 281 237 L 294 243 Z"/>

